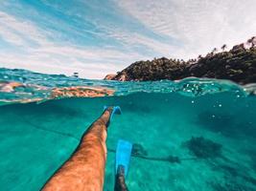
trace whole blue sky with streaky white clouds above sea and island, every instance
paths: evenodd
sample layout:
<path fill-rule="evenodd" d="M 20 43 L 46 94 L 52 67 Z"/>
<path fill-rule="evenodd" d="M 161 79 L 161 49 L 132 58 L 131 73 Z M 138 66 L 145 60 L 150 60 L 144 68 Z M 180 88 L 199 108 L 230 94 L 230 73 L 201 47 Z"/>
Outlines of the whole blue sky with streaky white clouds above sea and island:
<path fill-rule="evenodd" d="M 255 0 L 0 0 L 0 67 L 103 78 L 256 34 Z"/>

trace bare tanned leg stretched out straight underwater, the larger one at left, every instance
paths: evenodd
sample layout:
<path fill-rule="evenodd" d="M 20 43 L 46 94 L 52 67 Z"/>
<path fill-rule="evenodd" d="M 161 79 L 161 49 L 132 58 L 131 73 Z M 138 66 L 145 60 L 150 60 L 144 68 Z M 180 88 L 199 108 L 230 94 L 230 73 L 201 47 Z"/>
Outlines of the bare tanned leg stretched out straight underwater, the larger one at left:
<path fill-rule="evenodd" d="M 46 182 L 42 190 L 102 191 L 105 178 L 106 128 L 113 111 L 108 107 L 81 138 L 80 145 Z"/>

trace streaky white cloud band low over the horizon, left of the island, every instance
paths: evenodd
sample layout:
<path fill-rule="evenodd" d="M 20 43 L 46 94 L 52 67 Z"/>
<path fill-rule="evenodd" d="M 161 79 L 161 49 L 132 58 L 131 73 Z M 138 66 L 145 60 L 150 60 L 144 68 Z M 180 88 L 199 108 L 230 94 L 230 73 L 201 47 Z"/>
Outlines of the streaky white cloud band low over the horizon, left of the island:
<path fill-rule="evenodd" d="M 60 45 L 51 42 L 49 32 L 39 30 L 29 22 L 23 22 L 0 11 L 0 35 L 21 49 L 18 53 L 0 53 L 2 67 L 23 68 L 48 74 L 73 74 L 79 72 L 87 78 L 103 78 L 115 73 L 139 58 L 138 53 L 123 53 L 115 49 L 78 47 L 74 44 Z M 29 35 L 28 35 L 29 34 Z M 30 42 L 37 46 L 32 47 Z"/>

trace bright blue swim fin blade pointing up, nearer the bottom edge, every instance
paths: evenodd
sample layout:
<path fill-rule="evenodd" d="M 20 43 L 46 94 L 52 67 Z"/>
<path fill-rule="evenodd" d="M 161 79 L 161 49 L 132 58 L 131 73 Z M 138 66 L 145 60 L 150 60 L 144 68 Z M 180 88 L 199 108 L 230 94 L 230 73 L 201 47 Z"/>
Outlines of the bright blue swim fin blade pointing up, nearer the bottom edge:
<path fill-rule="evenodd" d="M 121 165 L 125 170 L 125 177 L 128 174 L 128 163 L 131 155 L 132 144 L 127 140 L 119 139 L 116 148 L 115 174 L 118 173 L 118 167 Z"/>

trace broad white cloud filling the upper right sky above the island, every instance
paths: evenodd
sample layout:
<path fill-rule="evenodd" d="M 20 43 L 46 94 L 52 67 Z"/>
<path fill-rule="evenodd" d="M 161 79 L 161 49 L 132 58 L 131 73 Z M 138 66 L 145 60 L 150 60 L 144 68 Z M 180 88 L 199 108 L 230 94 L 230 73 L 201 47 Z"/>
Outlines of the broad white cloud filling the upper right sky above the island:
<path fill-rule="evenodd" d="M 175 56 L 189 58 L 226 43 L 244 42 L 256 34 L 255 0 L 116 0 L 158 34 L 183 42 Z"/>

